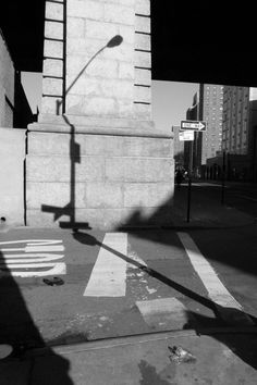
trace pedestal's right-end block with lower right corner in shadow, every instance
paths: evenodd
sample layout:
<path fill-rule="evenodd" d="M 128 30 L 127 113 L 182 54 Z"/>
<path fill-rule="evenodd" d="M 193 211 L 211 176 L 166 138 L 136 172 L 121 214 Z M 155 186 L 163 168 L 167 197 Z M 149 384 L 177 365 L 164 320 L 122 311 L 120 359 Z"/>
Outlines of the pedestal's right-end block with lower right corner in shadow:
<path fill-rule="evenodd" d="M 171 204 L 173 188 L 171 183 L 127 183 L 124 185 L 124 207 L 127 208 L 156 208 L 160 204 Z"/>

